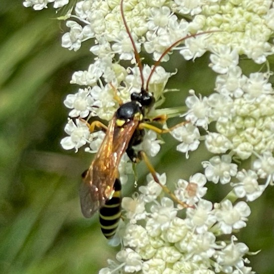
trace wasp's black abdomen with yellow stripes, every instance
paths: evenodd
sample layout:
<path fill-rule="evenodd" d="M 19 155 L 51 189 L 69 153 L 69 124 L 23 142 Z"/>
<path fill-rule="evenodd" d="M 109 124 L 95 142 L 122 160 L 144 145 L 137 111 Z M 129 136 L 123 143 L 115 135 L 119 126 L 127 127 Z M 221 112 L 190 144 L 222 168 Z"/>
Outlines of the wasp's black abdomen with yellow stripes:
<path fill-rule="evenodd" d="M 107 239 L 111 239 L 116 233 L 121 218 L 121 182 L 118 178 L 114 183 L 114 194 L 100 209 L 100 226 Z"/>

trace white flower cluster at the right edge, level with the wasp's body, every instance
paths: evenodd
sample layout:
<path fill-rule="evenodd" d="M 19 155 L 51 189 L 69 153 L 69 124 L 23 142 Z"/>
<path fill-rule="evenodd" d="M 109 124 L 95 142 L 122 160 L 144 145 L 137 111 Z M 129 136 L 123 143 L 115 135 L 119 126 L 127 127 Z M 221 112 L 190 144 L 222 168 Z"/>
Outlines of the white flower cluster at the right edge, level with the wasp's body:
<path fill-rule="evenodd" d="M 222 58 L 217 62 L 217 55 L 211 55 L 215 61 L 212 68 L 220 73 L 216 92 L 198 97 L 191 90 L 186 98 L 188 111 L 183 114 L 189 123 L 176 128 L 172 135 L 181 142 L 177 149 L 187 157 L 204 139 L 208 151 L 222 154 L 202 162 L 207 179 L 231 183 L 238 198 L 253 201 L 274 178 L 274 90 L 270 72 L 247 77 L 238 66 L 238 55 L 233 55 L 235 52 L 227 50 L 226 57 L 232 61 L 225 73 Z M 211 124 L 216 132 L 208 131 Z M 200 135 L 200 128 L 207 131 L 205 136 Z M 237 165 L 232 158 L 237 159 Z M 240 162 L 246 159 L 253 159 L 250 169 L 240 170 Z M 262 179 L 266 179 L 264 184 Z"/>

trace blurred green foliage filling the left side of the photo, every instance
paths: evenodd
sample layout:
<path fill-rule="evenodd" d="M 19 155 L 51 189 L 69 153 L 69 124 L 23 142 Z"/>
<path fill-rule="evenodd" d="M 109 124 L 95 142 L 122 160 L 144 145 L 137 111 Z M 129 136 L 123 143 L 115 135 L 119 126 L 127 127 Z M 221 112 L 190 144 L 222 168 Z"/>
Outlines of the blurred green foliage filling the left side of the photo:
<path fill-rule="evenodd" d="M 54 10 L 0 6 L 0 273 L 97 273 L 114 249 L 97 216 L 80 213 L 80 174 L 91 159 L 59 145 L 63 99 L 89 51 L 61 48 L 65 23 Z"/>

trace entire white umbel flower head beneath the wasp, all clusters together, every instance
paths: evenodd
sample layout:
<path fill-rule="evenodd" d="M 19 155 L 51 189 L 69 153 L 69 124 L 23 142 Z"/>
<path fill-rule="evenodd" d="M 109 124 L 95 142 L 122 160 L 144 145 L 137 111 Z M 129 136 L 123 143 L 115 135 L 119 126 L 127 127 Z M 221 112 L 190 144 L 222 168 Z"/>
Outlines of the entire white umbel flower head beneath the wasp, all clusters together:
<path fill-rule="evenodd" d="M 60 7 L 68 1 L 23 4 L 42 9 L 49 2 Z M 175 201 L 188 205 L 184 211 L 163 197 L 150 176 L 137 193 L 124 198 L 124 221 L 115 238 L 122 243 L 121 251 L 117 262 L 109 261 L 100 273 L 255 273 L 248 267 L 247 245 L 235 234 L 251 214 L 247 201 L 258 199 L 274 179 L 274 90 L 267 60 L 274 54 L 273 1 L 124 0 L 122 8 L 131 37 L 120 0 L 78 1 L 65 16 L 69 31 L 62 46 L 76 51 L 90 42 L 95 58 L 72 76 L 71 83 L 81 87 L 65 100 L 69 120 L 63 148 L 96 152 L 104 133 L 90 132 L 85 121 L 110 121 L 119 107 L 117 97 L 128 102 L 144 84 L 156 99 L 147 118 L 183 117 L 186 123 L 171 132 L 179 141 L 177 150 L 188 158 L 203 143 L 211 156 L 197 162 L 202 172 L 176 182 L 173 194 Z M 187 35 L 191 37 L 184 43 L 176 43 Z M 217 74 L 214 90 L 197 94 L 191 89 L 181 102 L 183 108 L 161 109 L 164 95 L 170 96 L 165 85 L 173 73 L 160 65 L 140 69 L 136 56 L 141 51 L 165 62 L 173 51 L 185 60 L 209 52 L 209 67 Z M 243 57 L 260 69 L 244 73 Z M 160 143 L 155 133 L 147 132 L 138 149 L 155 156 Z M 128 163 L 125 155 L 120 163 L 122 182 L 130 172 Z M 158 180 L 170 184 L 165 173 L 158 174 Z M 231 191 L 213 204 L 205 198 L 209 182 L 229 185 Z"/>

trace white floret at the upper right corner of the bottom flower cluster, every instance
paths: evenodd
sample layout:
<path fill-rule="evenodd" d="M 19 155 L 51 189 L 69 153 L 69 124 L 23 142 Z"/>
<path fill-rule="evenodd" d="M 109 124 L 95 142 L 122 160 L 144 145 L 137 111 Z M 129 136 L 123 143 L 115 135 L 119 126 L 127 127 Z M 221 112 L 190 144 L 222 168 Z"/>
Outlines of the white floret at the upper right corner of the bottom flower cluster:
<path fill-rule="evenodd" d="M 221 207 L 215 210 L 220 229 L 224 234 L 231 234 L 234 229 L 246 227 L 247 217 L 251 210 L 244 201 L 238 202 L 235 206 L 231 201 L 221 202 Z"/>

